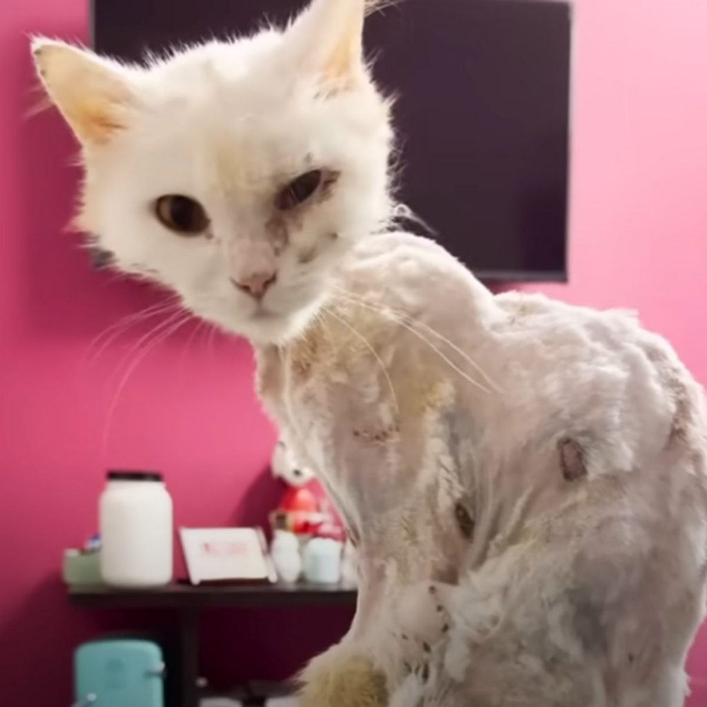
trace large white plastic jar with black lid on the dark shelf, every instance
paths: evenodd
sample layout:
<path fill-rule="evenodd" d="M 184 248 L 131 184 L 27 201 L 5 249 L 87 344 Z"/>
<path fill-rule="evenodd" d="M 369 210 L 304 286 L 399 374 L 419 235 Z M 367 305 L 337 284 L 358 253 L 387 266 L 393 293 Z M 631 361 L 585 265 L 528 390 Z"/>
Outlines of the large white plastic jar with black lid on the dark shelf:
<path fill-rule="evenodd" d="M 170 583 L 173 505 L 161 474 L 108 472 L 99 518 L 103 582 L 117 588 Z"/>

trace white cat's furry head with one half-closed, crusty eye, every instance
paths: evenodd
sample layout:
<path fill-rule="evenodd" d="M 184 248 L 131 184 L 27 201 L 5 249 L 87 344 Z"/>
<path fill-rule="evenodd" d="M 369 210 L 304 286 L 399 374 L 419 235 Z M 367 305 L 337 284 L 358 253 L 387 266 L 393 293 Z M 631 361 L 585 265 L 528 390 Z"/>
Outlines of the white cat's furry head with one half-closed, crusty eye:
<path fill-rule="evenodd" d="M 389 105 L 363 58 L 365 12 L 313 0 L 284 30 L 146 67 L 35 40 L 81 143 L 80 228 L 224 329 L 297 334 L 351 245 L 390 216 Z"/>

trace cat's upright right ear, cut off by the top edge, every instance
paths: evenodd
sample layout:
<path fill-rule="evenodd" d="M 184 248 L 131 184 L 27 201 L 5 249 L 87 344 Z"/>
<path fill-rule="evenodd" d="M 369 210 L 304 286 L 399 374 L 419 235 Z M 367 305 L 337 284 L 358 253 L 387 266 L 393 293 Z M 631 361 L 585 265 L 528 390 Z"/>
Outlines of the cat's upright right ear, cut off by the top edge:
<path fill-rule="evenodd" d="M 298 71 L 316 74 L 332 89 L 350 88 L 363 78 L 363 20 L 370 5 L 370 0 L 312 0 L 289 30 Z"/>

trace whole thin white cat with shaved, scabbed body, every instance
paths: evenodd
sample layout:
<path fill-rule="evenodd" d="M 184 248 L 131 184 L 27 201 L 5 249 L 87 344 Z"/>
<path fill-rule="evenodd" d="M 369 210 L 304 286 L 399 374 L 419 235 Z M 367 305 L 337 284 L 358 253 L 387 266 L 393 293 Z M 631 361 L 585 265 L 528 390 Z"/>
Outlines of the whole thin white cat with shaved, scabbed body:
<path fill-rule="evenodd" d="M 492 296 L 382 233 L 363 5 L 146 68 L 37 40 L 83 148 L 79 223 L 254 342 L 358 544 L 356 619 L 305 707 L 677 707 L 707 571 L 701 390 L 630 315 Z"/>

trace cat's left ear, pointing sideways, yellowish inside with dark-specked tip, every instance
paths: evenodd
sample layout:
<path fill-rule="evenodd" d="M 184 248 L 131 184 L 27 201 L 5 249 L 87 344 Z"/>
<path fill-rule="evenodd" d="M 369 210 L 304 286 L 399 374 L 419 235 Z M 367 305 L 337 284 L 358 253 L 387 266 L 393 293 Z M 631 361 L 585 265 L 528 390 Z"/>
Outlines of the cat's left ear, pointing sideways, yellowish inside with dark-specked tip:
<path fill-rule="evenodd" d="M 32 54 L 49 98 L 82 144 L 105 144 L 127 126 L 133 94 L 122 66 L 42 37 Z"/>

